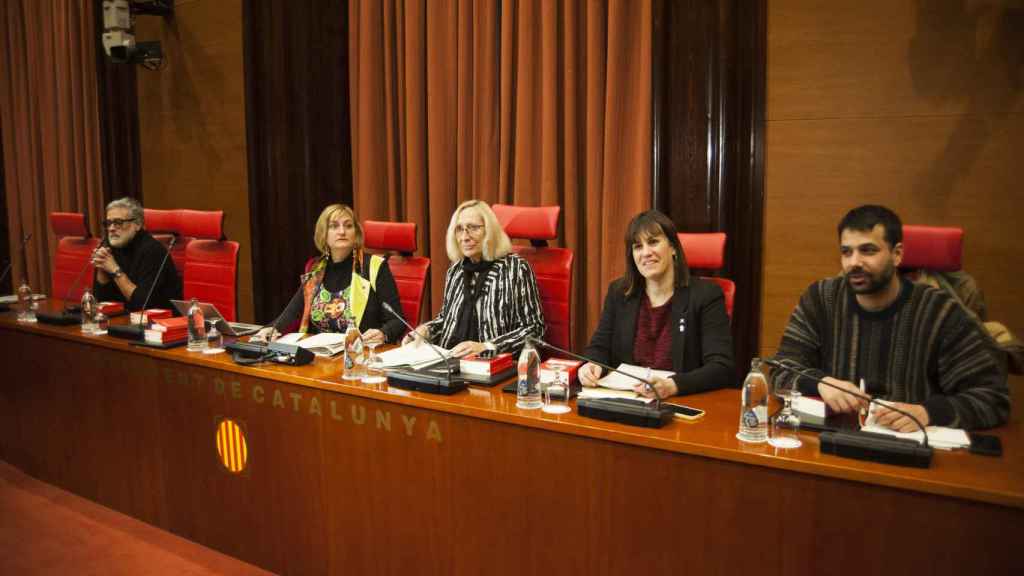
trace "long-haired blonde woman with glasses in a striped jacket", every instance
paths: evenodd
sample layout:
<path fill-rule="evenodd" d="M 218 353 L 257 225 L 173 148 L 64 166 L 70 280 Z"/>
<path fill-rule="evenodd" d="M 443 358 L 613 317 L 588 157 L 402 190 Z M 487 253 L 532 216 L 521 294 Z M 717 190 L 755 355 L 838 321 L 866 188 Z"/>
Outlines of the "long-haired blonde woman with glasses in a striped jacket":
<path fill-rule="evenodd" d="M 484 351 L 517 353 L 527 336 L 544 335 L 544 313 L 534 271 L 514 252 L 486 202 L 463 202 L 445 241 L 449 266 L 441 311 L 417 328 L 455 356 Z M 407 336 L 407 341 L 413 337 Z"/>

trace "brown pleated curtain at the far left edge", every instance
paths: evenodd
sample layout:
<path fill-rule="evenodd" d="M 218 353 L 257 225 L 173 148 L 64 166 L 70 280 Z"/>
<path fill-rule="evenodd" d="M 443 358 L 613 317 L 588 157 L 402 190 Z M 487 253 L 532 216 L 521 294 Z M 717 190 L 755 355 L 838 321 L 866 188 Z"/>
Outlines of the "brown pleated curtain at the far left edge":
<path fill-rule="evenodd" d="M 0 130 L 10 246 L 32 233 L 27 258 L 11 254 L 15 286 L 50 290 L 52 211 L 102 219 L 97 36 L 92 2 L 0 2 Z M 57 297 L 60 295 L 57 294 Z"/>

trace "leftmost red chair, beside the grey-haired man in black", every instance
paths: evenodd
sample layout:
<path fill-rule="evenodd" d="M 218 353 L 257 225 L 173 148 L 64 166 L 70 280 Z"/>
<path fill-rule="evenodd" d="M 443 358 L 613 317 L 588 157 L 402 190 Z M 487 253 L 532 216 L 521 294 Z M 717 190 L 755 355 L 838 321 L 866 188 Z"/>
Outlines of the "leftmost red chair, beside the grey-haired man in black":
<path fill-rule="evenodd" d="M 99 239 L 92 238 L 85 225 L 85 215 L 79 212 L 51 212 L 50 230 L 57 237 L 50 274 L 50 296 L 80 300 L 85 288 L 92 288 L 93 269 L 89 259 L 99 245 Z"/>

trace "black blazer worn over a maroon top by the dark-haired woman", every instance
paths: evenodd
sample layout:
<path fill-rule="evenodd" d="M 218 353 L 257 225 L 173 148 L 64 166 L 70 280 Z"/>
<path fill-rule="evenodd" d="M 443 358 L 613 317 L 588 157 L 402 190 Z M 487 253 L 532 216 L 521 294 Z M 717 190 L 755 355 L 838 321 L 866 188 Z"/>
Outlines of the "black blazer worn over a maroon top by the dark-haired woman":
<path fill-rule="evenodd" d="M 610 366 L 633 364 L 633 340 L 642 292 L 627 297 L 625 280 L 608 285 L 604 308 L 586 354 Z M 725 296 L 717 284 L 690 277 L 672 296 L 672 369 L 679 394 L 735 386 L 732 334 Z"/>

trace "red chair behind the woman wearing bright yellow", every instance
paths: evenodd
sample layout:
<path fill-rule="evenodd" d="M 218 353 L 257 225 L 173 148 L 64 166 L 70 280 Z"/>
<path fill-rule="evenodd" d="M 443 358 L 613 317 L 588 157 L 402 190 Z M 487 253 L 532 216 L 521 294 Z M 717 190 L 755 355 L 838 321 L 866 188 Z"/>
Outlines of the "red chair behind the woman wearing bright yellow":
<path fill-rule="evenodd" d="M 388 268 L 398 286 L 398 299 L 406 321 L 417 326 L 423 312 L 423 292 L 430 274 L 430 258 L 414 256 L 416 223 L 362 221 L 362 244 L 375 252 L 396 252 L 388 258 Z"/>

